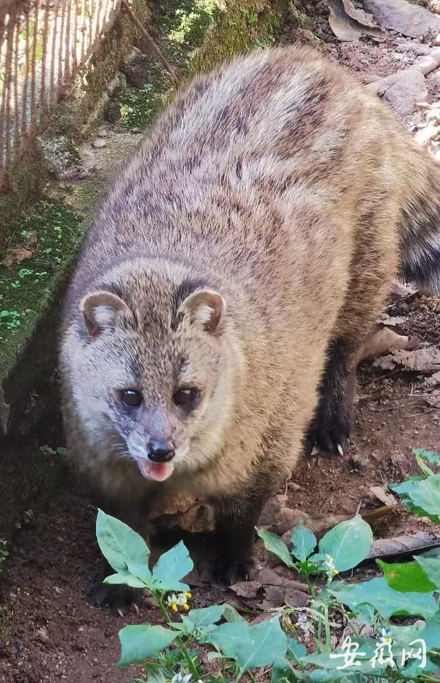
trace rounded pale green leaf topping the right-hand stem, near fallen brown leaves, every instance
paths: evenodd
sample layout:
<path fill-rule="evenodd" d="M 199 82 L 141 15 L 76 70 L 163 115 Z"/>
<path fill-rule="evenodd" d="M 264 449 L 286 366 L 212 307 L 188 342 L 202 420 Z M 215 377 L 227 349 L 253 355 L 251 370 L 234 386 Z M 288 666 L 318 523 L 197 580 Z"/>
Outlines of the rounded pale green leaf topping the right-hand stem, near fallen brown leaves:
<path fill-rule="evenodd" d="M 334 558 L 338 572 L 356 567 L 370 552 L 373 534 L 369 524 L 360 514 L 347 519 L 329 530 L 319 541 L 319 552 Z"/>

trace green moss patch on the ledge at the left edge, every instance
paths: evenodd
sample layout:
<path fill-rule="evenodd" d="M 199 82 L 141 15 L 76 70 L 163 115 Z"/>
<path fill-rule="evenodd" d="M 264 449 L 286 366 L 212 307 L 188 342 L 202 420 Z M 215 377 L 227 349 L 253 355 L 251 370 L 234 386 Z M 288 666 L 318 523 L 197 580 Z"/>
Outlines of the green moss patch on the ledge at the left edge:
<path fill-rule="evenodd" d="M 10 247 L 27 249 L 32 256 L 9 268 L 0 265 L 0 384 L 50 302 L 81 238 L 79 215 L 48 202 L 40 202 L 35 213 L 15 226 Z"/>

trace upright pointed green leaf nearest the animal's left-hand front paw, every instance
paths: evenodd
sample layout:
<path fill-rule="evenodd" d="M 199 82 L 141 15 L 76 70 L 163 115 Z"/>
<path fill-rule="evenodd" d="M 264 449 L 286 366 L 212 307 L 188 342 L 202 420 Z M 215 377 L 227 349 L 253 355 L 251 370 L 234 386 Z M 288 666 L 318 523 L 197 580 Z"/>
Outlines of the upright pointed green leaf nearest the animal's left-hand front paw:
<path fill-rule="evenodd" d="M 142 536 L 102 510 L 96 518 L 96 537 L 108 564 L 118 573 L 127 570 L 128 562 L 148 566 L 150 551 Z"/>

